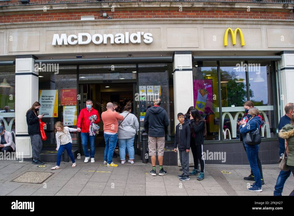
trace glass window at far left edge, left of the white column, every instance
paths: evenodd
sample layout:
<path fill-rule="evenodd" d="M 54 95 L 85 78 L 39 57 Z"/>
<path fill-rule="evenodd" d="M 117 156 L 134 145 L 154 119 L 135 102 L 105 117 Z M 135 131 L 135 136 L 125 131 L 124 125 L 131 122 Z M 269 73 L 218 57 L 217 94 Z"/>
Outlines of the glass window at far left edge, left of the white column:
<path fill-rule="evenodd" d="M 15 138 L 15 66 L 0 67 L 0 123 Z M 15 140 L 13 140 L 15 141 Z"/>

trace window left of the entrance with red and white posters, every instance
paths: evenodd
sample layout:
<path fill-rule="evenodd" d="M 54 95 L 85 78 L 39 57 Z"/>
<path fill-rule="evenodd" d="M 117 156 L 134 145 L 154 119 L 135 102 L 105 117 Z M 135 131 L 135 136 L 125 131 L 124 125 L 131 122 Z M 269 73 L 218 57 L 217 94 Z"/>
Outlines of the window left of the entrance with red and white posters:
<path fill-rule="evenodd" d="M 48 114 L 48 117 L 42 118 L 42 121 L 46 123 L 45 133 L 47 136 L 47 139 L 46 141 L 43 141 L 43 144 L 56 143 L 54 124 L 57 121 L 63 122 L 64 126 L 76 128 L 77 66 L 58 67 L 58 73 L 39 72 L 39 102 L 41 103 L 42 97 L 58 97 L 57 99 L 55 98 L 57 106 L 56 108 L 53 108 L 53 111 L 50 111 L 49 107 L 46 110 L 43 110 L 42 107 L 44 108 L 47 106 L 45 105 L 47 102 L 41 103 L 41 109 L 39 112 Z M 56 113 L 56 117 L 54 116 L 54 113 Z M 77 144 L 77 133 L 74 132 L 70 134 L 72 136 L 73 144 Z"/>

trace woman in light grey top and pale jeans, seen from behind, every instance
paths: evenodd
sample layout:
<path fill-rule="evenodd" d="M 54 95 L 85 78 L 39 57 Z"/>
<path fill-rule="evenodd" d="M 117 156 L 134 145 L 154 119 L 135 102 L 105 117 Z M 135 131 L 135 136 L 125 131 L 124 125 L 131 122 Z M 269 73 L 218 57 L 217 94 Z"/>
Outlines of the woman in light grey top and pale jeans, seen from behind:
<path fill-rule="evenodd" d="M 121 164 L 126 162 L 126 148 L 128 149 L 129 154 L 128 162 L 133 164 L 135 158 L 134 139 L 136 132 L 139 131 L 139 122 L 137 117 L 131 113 L 131 109 L 131 103 L 127 103 L 121 113 L 124 119 L 118 121 L 117 138 Z"/>

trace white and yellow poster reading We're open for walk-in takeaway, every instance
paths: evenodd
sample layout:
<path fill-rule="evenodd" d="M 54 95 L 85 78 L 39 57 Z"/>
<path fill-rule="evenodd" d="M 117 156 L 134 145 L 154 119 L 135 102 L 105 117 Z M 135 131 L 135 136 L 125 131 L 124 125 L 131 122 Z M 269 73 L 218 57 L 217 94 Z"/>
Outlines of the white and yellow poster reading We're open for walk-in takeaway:
<path fill-rule="evenodd" d="M 40 90 L 39 103 L 41 104 L 39 114 L 44 117 L 58 117 L 58 90 Z"/>

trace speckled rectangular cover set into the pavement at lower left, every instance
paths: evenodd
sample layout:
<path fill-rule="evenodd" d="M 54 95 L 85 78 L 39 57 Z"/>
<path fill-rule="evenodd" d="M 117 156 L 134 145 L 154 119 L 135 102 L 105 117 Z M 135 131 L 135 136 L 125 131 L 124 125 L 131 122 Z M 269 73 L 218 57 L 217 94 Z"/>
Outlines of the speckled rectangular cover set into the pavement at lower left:
<path fill-rule="evenodd" d="M 41 184 L 48 179 L 53 173 L 52 172 L 26 172 L 12 182 L 23 182 L 23 183 L 36 183 Z"/>

